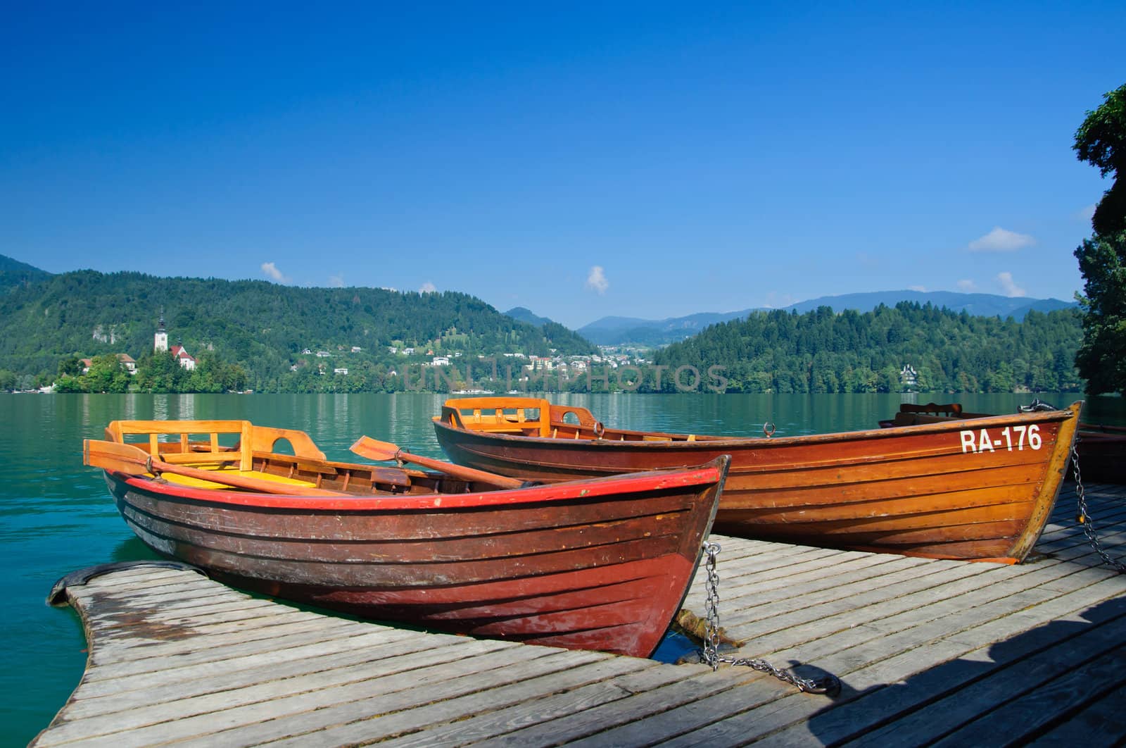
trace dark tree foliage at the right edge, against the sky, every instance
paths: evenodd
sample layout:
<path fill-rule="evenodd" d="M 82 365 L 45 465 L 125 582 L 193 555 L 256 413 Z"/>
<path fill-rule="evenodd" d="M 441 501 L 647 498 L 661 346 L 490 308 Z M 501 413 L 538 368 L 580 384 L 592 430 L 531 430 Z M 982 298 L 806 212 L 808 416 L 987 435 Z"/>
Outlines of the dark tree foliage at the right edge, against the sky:
<path fill-rule="evenodd" d="M 1114 178 L 1094 207 L 1094 233 L 1075 249 L 1083 275 L 1083 342 L 1075 365 L 1087 391 L 1126 395 L 1126 86 L 1106 95 L 1075 132 L 1081 161 Z"/>

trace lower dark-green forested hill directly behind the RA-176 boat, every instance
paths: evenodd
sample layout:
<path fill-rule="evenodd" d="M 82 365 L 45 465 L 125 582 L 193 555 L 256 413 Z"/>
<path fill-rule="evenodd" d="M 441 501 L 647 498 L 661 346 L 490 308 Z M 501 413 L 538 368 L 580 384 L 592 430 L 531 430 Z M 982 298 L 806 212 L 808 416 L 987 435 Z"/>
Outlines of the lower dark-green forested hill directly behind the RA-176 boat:
<path fill-rule="evenodd" d="M 894 392 L 904 366 L 924 392 L 1079 390 L 1081 338 L 1073 309 L 1029 311 L 1017 322 L 911 302 L 863 314 L 822 306 L 709 327 L 659 351 L 655 363 L 705 377 L 717 366 L 727 392 Z M 661 389 L 673 388 L 665 375 Z"/>

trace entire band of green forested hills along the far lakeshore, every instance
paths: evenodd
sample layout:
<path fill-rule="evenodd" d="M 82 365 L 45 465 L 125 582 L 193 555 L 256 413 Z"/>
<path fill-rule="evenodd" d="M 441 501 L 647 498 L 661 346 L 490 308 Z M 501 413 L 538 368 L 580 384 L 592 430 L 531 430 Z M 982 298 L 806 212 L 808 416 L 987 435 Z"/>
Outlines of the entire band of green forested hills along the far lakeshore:
<path fill-rule="evenodd" d="M 52 275 L 15 260 L 0 273 L 16 279 L 0 292 L 0 389 L 51 384 L 63 373 L 69 377 L 63 389 L 84 391 L 444 389 L 446 381 L 449 388 L 471 384 L 468 364 L 479 355 L 554 351 L 562 362 L 597 353 L 562 324 L 521 322 L 463 293 L 92 270 Z M 161 314 L 169 344 L 182 344 L 199 359 L 190 375 L 170 357 L 152 357 Z M 696 373 L 699 380 L 689 389 L 698 391 L 888 392 L 905 386 L 906 366 L 914 373 L 912 389 L 924 392 L 1078 390 L 1082 382 L 1073 363 L 1081 337 L 1074 309 L 1029 311 L 1022 321 L 913 302 L 865 313 L 775 310 L 713 324 L 655 351 L 652 364 L 619 368 L 622 362 L 595 356 L 583 369 L 544 376 L 537 369 L 527 383 L 515 365 L 516 380 L 506 374 L 484 384 L 676 391 Z M 123 375 L 108 354 L 128 354 L 141 374 Z M 99 356 L 97 373 L 81 376 L 78 359 Z M 499 372 L 519 359 L 502 360 Z M 423 367 L 431 365 L 427 376 Z M 450 376 L 439 376 L 446 372 Z M 472 374 L 480 380 L 480 371 Z"/>

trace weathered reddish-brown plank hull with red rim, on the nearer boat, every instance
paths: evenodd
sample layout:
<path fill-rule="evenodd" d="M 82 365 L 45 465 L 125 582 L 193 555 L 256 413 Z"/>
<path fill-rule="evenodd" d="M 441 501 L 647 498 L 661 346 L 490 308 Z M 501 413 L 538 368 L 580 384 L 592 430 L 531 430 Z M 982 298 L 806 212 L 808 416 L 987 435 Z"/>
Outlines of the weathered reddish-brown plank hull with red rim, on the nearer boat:
<path fill-rule="evenodd" d="M 106 473 L 146 545 L 366 618 L 645 657 L 687 594 L 726 461 L 485 495 L 291 497 Z"/>

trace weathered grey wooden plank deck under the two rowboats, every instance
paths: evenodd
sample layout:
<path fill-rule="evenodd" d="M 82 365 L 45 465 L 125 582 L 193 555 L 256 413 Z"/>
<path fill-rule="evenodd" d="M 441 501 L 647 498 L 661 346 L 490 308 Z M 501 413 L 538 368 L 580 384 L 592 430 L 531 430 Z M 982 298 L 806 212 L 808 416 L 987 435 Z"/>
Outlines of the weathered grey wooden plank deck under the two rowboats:
<path fill-rule="evenodd" d="M 1089 487 L 1126 562 L 1126 487 Z M 354 622 L 187 570 L 120 569 L 65 596 L 87 670 L 33 746 L 1006 746 L 1126 740 L 1126 575 L 1064 488 L 1020 566 L 714 537 L 747 667 L 662 665 Z M 704 613 L 703 570 L 686 606 Z"/>

